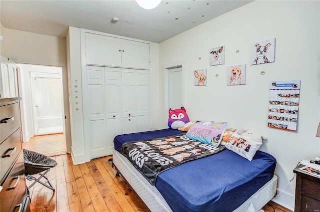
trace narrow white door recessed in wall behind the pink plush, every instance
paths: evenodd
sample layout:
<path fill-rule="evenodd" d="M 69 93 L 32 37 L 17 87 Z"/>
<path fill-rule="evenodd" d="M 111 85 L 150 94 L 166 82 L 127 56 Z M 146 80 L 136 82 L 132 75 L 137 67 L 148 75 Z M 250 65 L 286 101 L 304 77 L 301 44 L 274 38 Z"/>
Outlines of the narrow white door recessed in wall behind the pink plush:
<path fill-rule="evenodd" d="M 168 70 L 168 106 L 176 109 L 182 105 L 182 67 Z"/>

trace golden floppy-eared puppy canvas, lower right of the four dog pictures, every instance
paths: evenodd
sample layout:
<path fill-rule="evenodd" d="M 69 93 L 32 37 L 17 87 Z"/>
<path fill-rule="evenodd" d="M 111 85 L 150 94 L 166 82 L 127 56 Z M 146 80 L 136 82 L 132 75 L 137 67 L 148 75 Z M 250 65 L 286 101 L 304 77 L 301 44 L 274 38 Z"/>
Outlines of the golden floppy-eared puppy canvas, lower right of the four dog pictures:
<path fill-rule="evenodd" d="M 226 78 L 227 85 L 245 85 L 245 64 L 228 66 Z"/>

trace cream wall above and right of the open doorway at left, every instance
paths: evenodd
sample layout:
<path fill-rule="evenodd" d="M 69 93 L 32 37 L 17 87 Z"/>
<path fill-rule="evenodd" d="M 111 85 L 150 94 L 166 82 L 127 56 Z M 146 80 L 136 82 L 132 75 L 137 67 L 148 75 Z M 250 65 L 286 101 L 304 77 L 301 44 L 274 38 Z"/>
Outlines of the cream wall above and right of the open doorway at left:
<path fill-rule="evenodd" d="M 67 152 L 70 152 L 70 120 L 68 104 L 66 39 L 49 35 L 5 28 L 0 24 L 0 52 L 16 63 L 49 65 L 62 67 L 65 139 Z M 23 126 L 22 126 L 23 127 Z"/>

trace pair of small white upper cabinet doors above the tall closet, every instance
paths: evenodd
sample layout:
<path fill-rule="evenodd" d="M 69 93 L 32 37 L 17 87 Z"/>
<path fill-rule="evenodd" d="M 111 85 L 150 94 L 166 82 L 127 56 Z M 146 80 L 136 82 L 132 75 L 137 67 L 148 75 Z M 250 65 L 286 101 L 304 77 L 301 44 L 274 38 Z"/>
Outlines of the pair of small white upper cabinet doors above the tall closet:
<path fill-rule="evenodd" d="M 150 44 L 94 33 L 85 33 L 87 65 L 150 67 Z"/>

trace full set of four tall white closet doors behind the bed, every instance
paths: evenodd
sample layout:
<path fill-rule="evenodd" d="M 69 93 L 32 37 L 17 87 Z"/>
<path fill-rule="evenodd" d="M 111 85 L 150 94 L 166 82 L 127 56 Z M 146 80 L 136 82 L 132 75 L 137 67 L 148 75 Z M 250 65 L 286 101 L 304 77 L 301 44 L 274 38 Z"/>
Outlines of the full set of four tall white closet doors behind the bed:
<path fill-rule="evenodd" d="M 148 70 L 86 66 L 90 156 L 111 155 L 113 138 L 149 130 Z"/>

